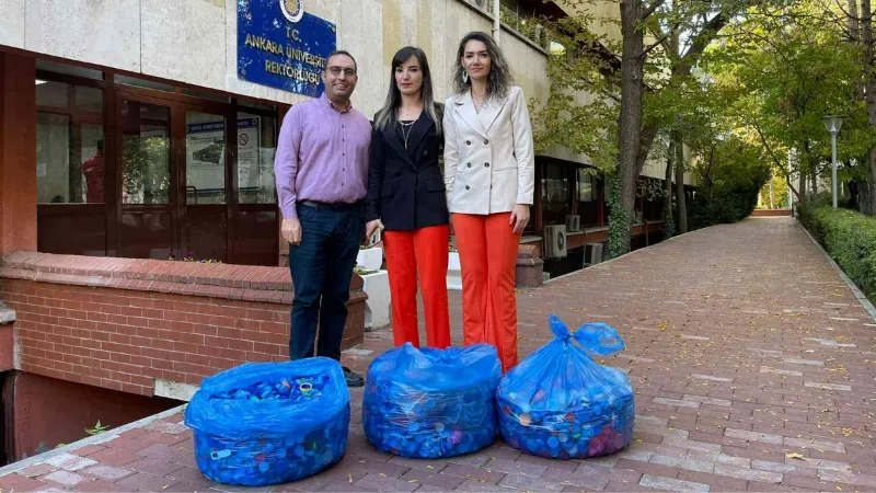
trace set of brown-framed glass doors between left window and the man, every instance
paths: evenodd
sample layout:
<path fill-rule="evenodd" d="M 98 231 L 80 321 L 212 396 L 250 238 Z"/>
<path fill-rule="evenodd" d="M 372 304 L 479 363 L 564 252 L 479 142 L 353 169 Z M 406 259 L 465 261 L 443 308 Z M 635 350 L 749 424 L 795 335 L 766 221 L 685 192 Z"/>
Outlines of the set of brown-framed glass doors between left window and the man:
<path fill-rule="evenodd" d="M 276 265 L 276 111 L 118 91 L 117 256 Z"/>

